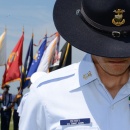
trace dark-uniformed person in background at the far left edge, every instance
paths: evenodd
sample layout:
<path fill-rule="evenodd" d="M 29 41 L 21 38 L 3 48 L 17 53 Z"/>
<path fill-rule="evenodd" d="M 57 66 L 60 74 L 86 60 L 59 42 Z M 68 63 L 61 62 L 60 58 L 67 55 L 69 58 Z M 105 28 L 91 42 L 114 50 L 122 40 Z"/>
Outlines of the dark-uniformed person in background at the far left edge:
<path fill-rule="evenodd" d="M 1 104 L 1 130 L 9 130 L 12 115 L 13 96 L 9 93 L 9 85 L 5 85 Z"/>

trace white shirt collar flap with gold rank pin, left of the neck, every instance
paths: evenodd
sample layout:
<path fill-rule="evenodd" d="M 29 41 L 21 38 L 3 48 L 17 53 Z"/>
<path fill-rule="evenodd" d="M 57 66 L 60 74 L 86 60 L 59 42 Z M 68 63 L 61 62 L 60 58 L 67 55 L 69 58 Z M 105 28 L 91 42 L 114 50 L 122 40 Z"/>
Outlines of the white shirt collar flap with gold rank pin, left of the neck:
<path fill-rule="evenodd" d="M 83 60 L 76 67 L 74 75 L 75 89 L 84 86 L 95 79 L 99 79 L 90 54 L 86 54 Z"/>

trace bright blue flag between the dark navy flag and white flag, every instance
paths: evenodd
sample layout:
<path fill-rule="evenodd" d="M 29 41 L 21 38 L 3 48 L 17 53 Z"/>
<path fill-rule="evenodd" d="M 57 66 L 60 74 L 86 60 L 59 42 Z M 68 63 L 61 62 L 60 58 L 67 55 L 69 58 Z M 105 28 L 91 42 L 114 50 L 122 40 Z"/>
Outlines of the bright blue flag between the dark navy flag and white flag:
<path fill-rule="evenodd" d="M 46 42 L 47 42 L 47 36 L 45 37 L 45 40 L 43 41 L 43 43 L 39 47 L 37 53 L 35 54 L 35 56 L 32 60 L 30 67 L 28 68 L 28 72 L 27 72 L 27 76 L 26 76 L 26 82 L 23 86 L 23 89 L 30 84 L 30 77 L 37 70 L 37 67 L 38 67 L 38 65 L 41 61 L 42 55 L 43 55 L 44 50 L 46 48 Z"/>

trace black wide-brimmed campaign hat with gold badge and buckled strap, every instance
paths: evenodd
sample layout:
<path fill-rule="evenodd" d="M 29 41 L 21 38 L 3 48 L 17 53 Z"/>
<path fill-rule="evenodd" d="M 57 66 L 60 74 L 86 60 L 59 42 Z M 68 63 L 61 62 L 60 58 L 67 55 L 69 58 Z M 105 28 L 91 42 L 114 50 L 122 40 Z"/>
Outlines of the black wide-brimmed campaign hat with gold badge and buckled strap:
<path fill-rule="evenodd" d="M 53 19 L 60 35 L 84 52 L 130 57 L 129 0 L 56 0 Z"/>

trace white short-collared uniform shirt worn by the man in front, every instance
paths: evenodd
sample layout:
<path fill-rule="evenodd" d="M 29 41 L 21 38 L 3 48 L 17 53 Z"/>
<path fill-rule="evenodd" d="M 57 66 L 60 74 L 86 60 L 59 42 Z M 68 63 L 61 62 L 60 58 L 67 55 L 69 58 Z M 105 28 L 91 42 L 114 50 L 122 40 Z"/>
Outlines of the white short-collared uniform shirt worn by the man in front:
<path fill-rule="evenodd" d="M 130 130 L 130 80 L 113 99 L 89 54 L 33 85 L 19 130 Z"/>

